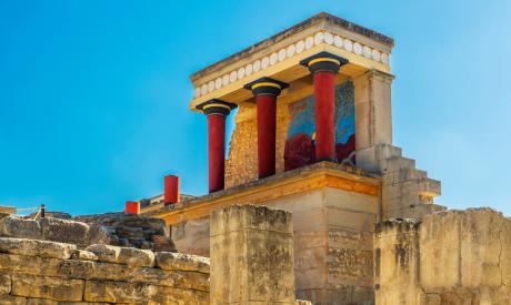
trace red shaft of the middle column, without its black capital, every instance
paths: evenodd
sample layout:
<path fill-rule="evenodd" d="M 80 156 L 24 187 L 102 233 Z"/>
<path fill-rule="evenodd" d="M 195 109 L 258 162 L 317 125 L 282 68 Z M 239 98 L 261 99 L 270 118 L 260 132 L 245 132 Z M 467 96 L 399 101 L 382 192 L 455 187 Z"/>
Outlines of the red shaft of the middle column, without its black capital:
<path fill-rule="evenodd" d="M 277 95 L 255 96 L 258 105 L 259 177 L 275 174 Z"/>

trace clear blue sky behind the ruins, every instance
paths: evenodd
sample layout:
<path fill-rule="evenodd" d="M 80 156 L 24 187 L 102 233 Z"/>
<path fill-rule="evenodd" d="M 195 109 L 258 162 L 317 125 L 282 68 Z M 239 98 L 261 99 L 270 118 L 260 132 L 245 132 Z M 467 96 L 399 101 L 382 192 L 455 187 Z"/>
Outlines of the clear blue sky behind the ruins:
<path fill-rule="evenodd" d="M 395 39 L 394 144 L 438 202 L 511 215 L 511 1 L 0 1 L 0 204 L 207 192 L 192 72 L 320 11 Z"/>

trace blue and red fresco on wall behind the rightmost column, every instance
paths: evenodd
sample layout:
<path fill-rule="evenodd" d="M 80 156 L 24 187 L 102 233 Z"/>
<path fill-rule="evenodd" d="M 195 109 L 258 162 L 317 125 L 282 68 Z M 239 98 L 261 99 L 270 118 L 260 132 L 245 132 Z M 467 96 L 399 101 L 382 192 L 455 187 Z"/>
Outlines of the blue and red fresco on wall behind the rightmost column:
<path fill-rule="evenodd" d="M 284 148 L 284 170 L 314 163 L 314 96 L 289 104 L 290 122 Z M 354 90 L 351 81 L 335 87 L 337 162 L 355 165 Z"/>

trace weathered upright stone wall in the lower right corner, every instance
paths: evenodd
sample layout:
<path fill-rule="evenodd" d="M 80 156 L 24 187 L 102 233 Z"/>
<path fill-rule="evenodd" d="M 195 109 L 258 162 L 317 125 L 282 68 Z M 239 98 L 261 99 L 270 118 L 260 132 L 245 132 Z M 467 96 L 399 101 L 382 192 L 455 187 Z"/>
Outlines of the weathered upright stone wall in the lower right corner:
<path fill-rule="evenodd" d="M 511 220 L 490 209 L 377 225 L 378 305 L 511 304 Z"/>

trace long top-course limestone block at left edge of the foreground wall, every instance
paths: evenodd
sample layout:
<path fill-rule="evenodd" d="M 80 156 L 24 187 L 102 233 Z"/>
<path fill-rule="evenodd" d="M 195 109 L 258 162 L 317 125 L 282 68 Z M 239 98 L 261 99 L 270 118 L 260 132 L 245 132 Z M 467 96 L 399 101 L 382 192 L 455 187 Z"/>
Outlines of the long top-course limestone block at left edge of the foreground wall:
<path fill-rule="evenodd" d="M 0 237 L 0 252 L 28 256 L 67 260 L 77 250 L 76 245 L 13 237 Z"/>

